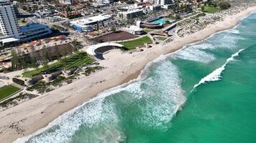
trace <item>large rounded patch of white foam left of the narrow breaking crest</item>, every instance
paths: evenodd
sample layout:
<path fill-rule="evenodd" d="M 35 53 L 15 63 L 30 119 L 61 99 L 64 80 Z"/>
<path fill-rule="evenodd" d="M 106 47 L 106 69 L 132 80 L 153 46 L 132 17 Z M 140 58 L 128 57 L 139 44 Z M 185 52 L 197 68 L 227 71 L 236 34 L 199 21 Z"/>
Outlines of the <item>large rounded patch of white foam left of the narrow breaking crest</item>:
<path fill-rule="evenodd" d="M 141 83 L 145 92 L 137 93 L 143 97 L 143 103 L 146 104 L 138 108 L 141 116 L 136 119 L 136 122 L 145 127 L 166 129 L 165 124 L 170 122 L 186 98 L 183 96 L 178 68 L 175 65 L 165 61 L 157 66 L 154 72 L 155 76 Z"/>

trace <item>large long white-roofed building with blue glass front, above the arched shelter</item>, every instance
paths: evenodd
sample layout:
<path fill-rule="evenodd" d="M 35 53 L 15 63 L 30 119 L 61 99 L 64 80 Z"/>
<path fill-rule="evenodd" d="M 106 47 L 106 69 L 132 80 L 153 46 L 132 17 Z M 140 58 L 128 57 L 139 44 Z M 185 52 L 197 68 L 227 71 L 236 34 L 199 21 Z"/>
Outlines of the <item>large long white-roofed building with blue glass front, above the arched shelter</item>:
<path fill-rule="evenodd" d="M 98 16 L 92 16 L 86 19 L 78 19 L 76 21 L 70 21 L 73 29 L 77 31 L 93 31 L 94 24 L 99 24 L 100 22 L 104 22 L 106 20 L 112 19 L 110 14 L 99 14 Z"/>

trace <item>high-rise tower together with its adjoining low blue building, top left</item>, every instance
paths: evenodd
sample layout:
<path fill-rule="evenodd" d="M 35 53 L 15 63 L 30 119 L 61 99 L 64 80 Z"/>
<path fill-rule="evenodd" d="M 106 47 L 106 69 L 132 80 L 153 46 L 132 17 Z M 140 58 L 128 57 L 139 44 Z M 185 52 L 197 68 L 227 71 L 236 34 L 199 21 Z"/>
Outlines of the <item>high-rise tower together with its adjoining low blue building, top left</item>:
<path fill-rule="evenodd" d="M 1 45 L 37 39 L 52 32 L 43 24 L 19 26 L 14 6 L 9 0 L 0 0 L 0 29 Z"/>

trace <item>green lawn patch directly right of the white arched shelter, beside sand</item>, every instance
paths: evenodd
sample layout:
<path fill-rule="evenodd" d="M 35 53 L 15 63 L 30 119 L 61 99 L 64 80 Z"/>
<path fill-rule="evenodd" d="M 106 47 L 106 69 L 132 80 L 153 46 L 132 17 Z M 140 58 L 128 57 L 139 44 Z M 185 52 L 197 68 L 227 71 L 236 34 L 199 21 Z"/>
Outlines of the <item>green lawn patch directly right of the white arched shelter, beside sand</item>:
<path fill-rule="evenodd" d="M 143 36 L 140 39 L 134 39 L 134 40 L 130 40 L 130 41 L 119 42 L 119 44 L 122 44 L 128 50 L 135 49 L 137 46 L 144 46 L 145 43 L 147 43 L 147 44 L 152 43 L 150 37 Z"/>

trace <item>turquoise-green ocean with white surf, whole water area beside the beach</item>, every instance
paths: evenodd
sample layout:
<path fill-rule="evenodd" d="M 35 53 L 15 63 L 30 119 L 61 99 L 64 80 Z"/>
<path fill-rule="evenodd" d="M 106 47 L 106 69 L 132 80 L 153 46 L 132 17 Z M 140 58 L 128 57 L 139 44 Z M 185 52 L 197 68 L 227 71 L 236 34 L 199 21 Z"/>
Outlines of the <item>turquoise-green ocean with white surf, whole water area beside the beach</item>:
<path fill-rule="evenodd" d="M 256 142 L 256 14 L 17 142 Z"/>

